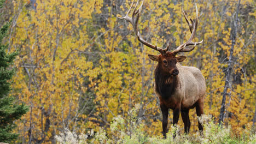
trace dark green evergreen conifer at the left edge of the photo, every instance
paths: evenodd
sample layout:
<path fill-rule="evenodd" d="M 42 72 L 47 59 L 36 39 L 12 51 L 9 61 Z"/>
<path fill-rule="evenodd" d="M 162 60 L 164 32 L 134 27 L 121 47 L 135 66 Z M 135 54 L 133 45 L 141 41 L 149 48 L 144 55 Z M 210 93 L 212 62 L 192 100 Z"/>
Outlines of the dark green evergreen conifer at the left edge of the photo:
<path fill-rule="evenodd" d="M 0 1 L 0 8 L 3 1 Z M 2 16 L 1 16 L 2 17 Z M 14 121 L 24 115 L 28 107 L 24 104 L 16 105 L 14 98 L 10 97 L 10 80 L 14 69 L 9 66 L 13 64 L 16 52 L 7 53 L 8 44 L 3 44 L 3 38 L 8 31 L 9 23 L 0 29 L 0 142 L 10 142 L 16 139 L 18 134 L 12 133 L 15 128 Z"/>

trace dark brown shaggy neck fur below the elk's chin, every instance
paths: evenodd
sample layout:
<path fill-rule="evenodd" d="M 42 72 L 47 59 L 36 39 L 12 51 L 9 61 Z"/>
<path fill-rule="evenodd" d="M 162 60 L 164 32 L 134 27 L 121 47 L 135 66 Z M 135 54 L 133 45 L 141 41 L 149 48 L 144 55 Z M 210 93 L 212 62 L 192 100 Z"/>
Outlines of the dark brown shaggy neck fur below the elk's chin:
<path fill-rule="evenodd" d="M 172 76 L 171 74 L 164 74 L 159 65 L 157 65 L 155 69 L 155 85 L 156 91 L 161 97 L 168 99 L 176 91 L 178 86 L 178 75 Z"/>

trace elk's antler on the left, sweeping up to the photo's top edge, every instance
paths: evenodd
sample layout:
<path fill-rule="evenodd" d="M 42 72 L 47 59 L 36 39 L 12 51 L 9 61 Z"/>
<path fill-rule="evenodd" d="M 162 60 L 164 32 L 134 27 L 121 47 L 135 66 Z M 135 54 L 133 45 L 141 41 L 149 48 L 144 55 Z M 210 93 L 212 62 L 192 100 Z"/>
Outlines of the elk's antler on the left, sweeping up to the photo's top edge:
<path fill-rule="evenodd" d="M 146 40 L 144 40 L 144 39 L 141 37 L 141 34 L 140 34 L 139 31 L 138 31 L 138 20 L 139 20 L 140 14 L 141 14 L 141 8 L 142 8 L 142 5 L 143 5 L 143 2 L 144 2 L 144 1 L 142 1 L 142 4 L 141 4 L 141 6 L 139 7 L 139 9 L 136 10 L 137 5 L 138 5 L 138 3 L 139 3 L 139 0 L 137 1 L 136 5 L 135 5 L 135 8 L 134 8 L 134 10 L 133 10 L 133 13 L 132 13 L 132 17 L 129 17 L 128 15 L 129 15 L 129 13 L 130 13 L 130 11 L 131 11 L 131 8 L 132 8 L 132 6 L 133 6 L 133 4 L 134 4 L 134 0 L 133 0 L 130 9 L 127 11 L 126 16 L 124 16 L 124 17 L 118 17 L 118 18 L 119 18 L 119 19 L 122 19 L 122 20 L 125 19 L 126 21 L 131 22 L 131 24 L 132 24 L 132 26 L 133 26 L 133 30 L 134 30 L 135 34 L 137 35 L 138 40 L 141 41 L 142 44 L 147 45 L 148 47 L 150 47 L 150 48 L 152 48 L 152 49 L 154 49 L 154 50 L 157 50 L 157 51 L 161 52 L 162 55 L 164 55 L 164 54 L 166 53 L 166 51 L 168 51 L 169 46 L 167 46 L 166 49 L 162 49 L 162 48 L 160 48 L 160 47 L 157 47 L 156 45 L 152 45 L 152 44 L 148 43 Z"/>

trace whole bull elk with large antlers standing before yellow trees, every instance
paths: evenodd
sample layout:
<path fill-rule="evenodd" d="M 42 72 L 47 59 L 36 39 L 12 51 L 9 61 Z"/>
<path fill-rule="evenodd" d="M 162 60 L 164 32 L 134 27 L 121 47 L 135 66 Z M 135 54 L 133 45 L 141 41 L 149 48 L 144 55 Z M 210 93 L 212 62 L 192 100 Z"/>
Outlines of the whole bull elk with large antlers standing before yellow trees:
<path fill-rule="evenodd" d="M 168 46 L 166 49 L 162 49 L 158 46 L 148 43 L 141 37 L 138 31 L 138 20 L 141 14 L 141 6 L 136 10 L 139 1 L 135 5 L 132 17 L 129 17 L 131 8 L 133 7 L 134 0 L 130 9 L 127 11 L 126 16 L 118 17 L 119 19 L 124 19 L 131 22 L 133 30 L 137 35 L 139 41 L 142 44 L 159 51 L 160 55 L 148 55 L 150 59 L 158 62 L 155 68 L 155 93 L 158 95 L 160 100 L 160 107 L 162 111 L 162 130 L 163 136 L 166 139 L 167 133 L 167 119 L 168 119 L 168 109 L 173 110 L 173 125 L 178 123 L 179 113 L 181 113 L 182 120 L 184 123 L 185 133 L 189 133 L 190 120 L 189 120 L 189 110 L 196 107 L 197 116 L 201 116 L 203 113 L 203 99 L 206 92 L 205 78 L 203 77 L 201 71 L 195 67 L 186 67 L 179 64 L 179 62 L 184 61 L 185 56 L 176 56 L 179 52 L 189 52 L 194 50 L 196 45 L 202 43 L 193 42 L 193 38 L 196 33 L 198 24 L 198 11 L 196 7 L 196 19 L 190 19 L 191 23 L 188 21 L 183 9 L 183 15 L 188 23 L 191 36 L 187 42 L 177 47 L 172 52 L 168 51 Z M 193 47 L 185 48 L 186 46 L 192 45 Z M 202 131 L 203 127 L 199 124 L 199 130 Z"/>

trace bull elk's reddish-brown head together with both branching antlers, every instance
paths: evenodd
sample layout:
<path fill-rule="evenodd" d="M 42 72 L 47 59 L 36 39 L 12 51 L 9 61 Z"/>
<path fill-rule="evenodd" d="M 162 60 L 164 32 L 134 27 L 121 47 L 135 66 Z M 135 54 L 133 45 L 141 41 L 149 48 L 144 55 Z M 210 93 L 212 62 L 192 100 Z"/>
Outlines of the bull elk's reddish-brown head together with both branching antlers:
<path fill-rule="evenodd" d="M 141 37 L 141 34 L 138 31 L 138 20 L 139 20 L 140 14 L 141 14 L 141 8 L 142 8 L 142 5 L 143 5 L 143 1 L 142 1 L 141 6 L 139 7 L 139 9 L 136 10 L 138 3 L 139 3 L 139 1 L 137 1 L 136 5 L 135 5 L 135 9 L 133 10 L 132 17 L 129 17 L 128 15 L 129 15 L 129 13 L 131 11 L 131 8 L 134 4 L 134 0 L 132 1 L 132 5 L 131 5 L 130 9 L 127 11 L 126 16 L 118 17 L 118 18 L 119 19 L 125 19 L 126 21 L 131 22 L 131 24 L 133 26 L 133 30 L 135 31 L 135 34 L 137 35 L 138 40 L 141 41 L 142 44 L 144 44 L 144 45 L 146 45 L 146 46 L 148 46 L 148 47 L 150 47 L 154 50 L 157 50 L 161 53 L 160 55 L 148 55 L 148 56 L 153 61 L 158 62 L 158 65 L 159 65 L 163 74 L 169 74 L 169 75 L 171 74 L 173 76 L 177 76 L 179 74 L 179 71 L 176 67 L 176 63 L 177 62 L 182 62 L 182 61 L 184 61 L 185 58 L 187 58 L 185 56 L 176 57 L 177 53 L 192 51 L 192 50 L 195 49 L 196 45 L 201 44 L 202 41 L 203 41 L 203 40 L 200 41 L 200 42 L 193 42 L 192 41 L 194 36 L 195 36 L 196 29 L 197 29 L 197 24 L 198 24 L 198 11 L 197 11 L 196 5 L 195 5 L 195 7 L 196 7 L 196 19 L 195 20 L 190 19 L 191 23 L 188 21 L 188 18 L 185 15 L 185 13 L 182 9 L 183 15 L 185 17 L 185 20 L 188 23 L 188 26 L 189 26 L 189 29 L 190 29 L 190 32 L 191 32 L 191 36 L 190 36 L 189 40 L 186 41 L 185 43 L 183 43 L 182 45 L 178 46 L 174 51 L 168 52 L 169 46 L 167 46 L 166 49 L 162 49 L 162 48 L 160 48 L 156 45 L 154 46 L 154 45 L 148 43 L 146 40 L 144 40 Z M 193 47 L 185 49 L 185 47 L 189 46 L 189 45 L 193 45 Z"/>

